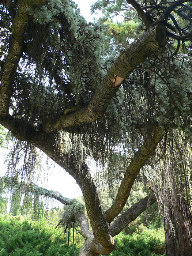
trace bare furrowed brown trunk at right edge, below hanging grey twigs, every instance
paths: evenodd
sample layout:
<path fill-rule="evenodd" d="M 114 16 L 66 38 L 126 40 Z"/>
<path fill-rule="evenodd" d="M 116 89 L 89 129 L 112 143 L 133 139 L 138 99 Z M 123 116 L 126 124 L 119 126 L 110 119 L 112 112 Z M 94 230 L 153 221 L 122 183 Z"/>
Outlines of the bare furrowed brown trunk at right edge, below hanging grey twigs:
<path fill-rule="evenodd" d="M 166 256 L 192 255 L 191 208 L 174 186 L 170 202 L 170 219 L 164 221 Z"/>

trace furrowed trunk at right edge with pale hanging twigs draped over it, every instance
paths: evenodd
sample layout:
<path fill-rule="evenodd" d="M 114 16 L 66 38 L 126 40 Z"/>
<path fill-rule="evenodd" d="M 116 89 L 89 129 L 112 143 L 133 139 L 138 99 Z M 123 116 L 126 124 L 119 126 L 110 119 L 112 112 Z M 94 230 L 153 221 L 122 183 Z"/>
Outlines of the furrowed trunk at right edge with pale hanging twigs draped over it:
<path fill-rule="evenodd" d="M 165 226 L 166 255 L 190 255 L 192 253 L 191 189 L 191 140 L 182 132 L 169 144 L 165 157 L 161 157 L 159 170 L 151 187 L 157 195 L 159 209 Z M 185 139 L 184 139 L 185 137 Z M 153 178 L 152 178 L 153 176 Z M 158 182 L 157 182 L 158 181 Z M 149 182 L 149 181 L 148 181 Z"/>

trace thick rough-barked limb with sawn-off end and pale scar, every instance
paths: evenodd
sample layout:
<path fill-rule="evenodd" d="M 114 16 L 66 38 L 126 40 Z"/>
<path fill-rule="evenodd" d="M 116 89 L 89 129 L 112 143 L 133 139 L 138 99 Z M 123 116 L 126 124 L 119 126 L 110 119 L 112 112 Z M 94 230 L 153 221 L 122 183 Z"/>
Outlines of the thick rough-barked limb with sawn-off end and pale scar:
<path fill-rule="evenodd" d="M 120 55 L 109 69 L 108 74 L 96 90 L 93 98 L 86 108 L 72 114 L 59 117 L 53 124 L 44 125 L 46 132 L 62 130 L 73 125 L 93 122 L 101 118 L 114 94 L 125 78 L 147 56 L 159 50 L 166 43 L 165 25 L 159 23 L 147 30 L 141 37 L 121 50 Z"/>

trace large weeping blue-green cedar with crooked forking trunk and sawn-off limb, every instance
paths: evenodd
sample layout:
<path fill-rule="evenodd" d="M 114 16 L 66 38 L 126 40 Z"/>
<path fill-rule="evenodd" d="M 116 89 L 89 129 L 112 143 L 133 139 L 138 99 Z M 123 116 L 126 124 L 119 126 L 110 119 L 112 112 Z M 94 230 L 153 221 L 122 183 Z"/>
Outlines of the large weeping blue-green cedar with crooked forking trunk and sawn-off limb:
<path fill-rule="evenodd" d="M 119 215 L 139 170 L 156 148 L 163 157 L 175 130 L 181 139 L 192 130 L 191 1 L 97 1 L 96 8 L 125 11 L 126 33 L 105 17 L 87 24 L 69 0 L 0 0 L 0 123 L 26 146 L 20 176 L 30 176 L 27 150 L 38 147 L 79 184 L 92 227 L 74 211 L 85 238 L 80 255 L 113 251 L 113 237 L 150 197 Z M 103 213 L 86 158 L 105 163 L 117 148 L 132 158 Z M 180 255 L 190 255 L 188 241 Z"/>

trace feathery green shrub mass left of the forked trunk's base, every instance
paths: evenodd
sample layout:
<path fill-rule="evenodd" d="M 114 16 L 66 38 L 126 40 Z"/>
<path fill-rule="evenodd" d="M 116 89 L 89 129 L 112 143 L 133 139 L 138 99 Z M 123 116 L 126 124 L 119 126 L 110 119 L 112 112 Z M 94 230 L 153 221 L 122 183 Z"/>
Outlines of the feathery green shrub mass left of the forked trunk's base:
<path fill-rule="evenodd" d="M 76 237 L 79 234 L 75 233 Z M 80 247 L 75 239 L 75 255 Z M 71 241 L 71 239 L 70 239 Z M 72 245 L 67 248 L 67 234 L 63 229 L 47 225 L 45 220 L 23 221 L 23 217 L 0 215 L 0 256 L 56 256 L 72 255 Z"/>

